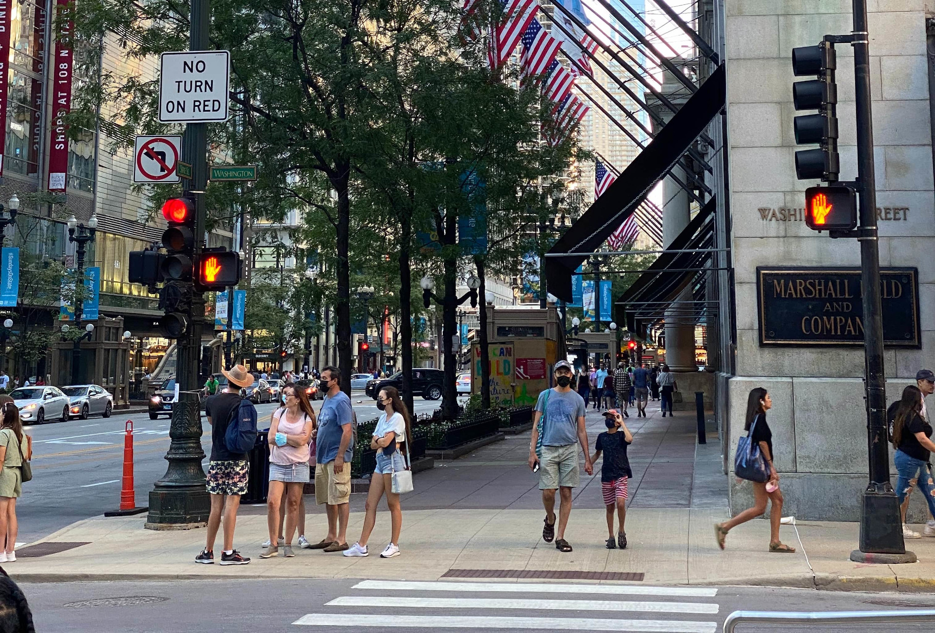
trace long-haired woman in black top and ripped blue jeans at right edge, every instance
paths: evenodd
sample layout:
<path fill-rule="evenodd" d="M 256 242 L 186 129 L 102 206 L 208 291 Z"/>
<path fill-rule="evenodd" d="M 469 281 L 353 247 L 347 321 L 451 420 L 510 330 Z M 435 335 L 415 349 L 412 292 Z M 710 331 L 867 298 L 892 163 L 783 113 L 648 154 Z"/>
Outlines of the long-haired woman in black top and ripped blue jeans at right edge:
<path fill-rule="evenodd" d="M 902 399 L 896 407 L 893 418 L 889 421 L 889 437 L 896 453 L 893 462 L 899 473 L 896 482 L 896 496 L 899 498 L 899 513 L 902 515 L 902 538 L 919 539 L 906 525 L 906 509 L 909 506 L 909 491 L 913 482 L 918 482 L 919 490 L 926 496 L 928 510 L 935 515 L 935 486 L 932 484 L 928 458 L 935 451 L 935 444 L 929 439 L 932 427 L 919 412 L 922 410 L 922 392 L 915 385 L 902 390 Z"/>

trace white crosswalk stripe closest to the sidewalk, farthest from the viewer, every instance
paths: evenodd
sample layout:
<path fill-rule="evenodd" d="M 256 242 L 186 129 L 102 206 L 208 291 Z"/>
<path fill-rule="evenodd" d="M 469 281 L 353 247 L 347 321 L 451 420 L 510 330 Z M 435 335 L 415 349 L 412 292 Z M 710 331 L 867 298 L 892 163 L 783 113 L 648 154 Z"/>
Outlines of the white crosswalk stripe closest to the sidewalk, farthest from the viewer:
<path fill-rule="evenodd" d="M 715 597 L 716 587 L 653 587 L 641 584 L 553 583 L 425 583 L 418 581 L 361 581 L 353 589 L 400 589 L 404 591 L 484 591 L 546 594 L 615 594 L 629 596 Z"/>

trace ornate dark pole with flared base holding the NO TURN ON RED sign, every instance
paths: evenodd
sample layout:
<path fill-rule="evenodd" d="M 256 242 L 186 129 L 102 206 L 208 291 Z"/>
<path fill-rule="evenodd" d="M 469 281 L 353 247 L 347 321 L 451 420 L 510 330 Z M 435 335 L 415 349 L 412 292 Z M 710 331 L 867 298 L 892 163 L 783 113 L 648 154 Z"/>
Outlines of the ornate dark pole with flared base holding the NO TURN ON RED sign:
<path fill-rule="evenodd" d="M 209 0 L 192 0 L 189 50 L 209 50 Z M 194 253 L 202 251 L 205 236 L 205 189 L 208 186 L 208 124 L 187 123 L 182 139 L 182 160 L 192 165 L 192 180 L 185 185 L 194 195 Z M 198 365 L 205 322 L 205 297 L 194 292 L 192 313 L 185 333 L 176 339 L 179 399 L 169 425 L 168 468 L 150 493 L 149 529 L 188 529 L 208 525 L 210 498 L 201 462 L 201 411 L 198 406 Z"/>

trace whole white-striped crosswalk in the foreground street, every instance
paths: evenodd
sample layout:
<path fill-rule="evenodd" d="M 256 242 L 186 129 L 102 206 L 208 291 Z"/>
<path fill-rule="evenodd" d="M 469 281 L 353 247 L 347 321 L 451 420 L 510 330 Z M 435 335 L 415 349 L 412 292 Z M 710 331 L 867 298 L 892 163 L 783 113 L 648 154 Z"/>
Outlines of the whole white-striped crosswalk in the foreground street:
<path fill-rule="evenodd" d="M 361 581 L 352 589 L 353 596 L 325 602 L 323 607 L 333 608 L 330 611 L 303 615 L 293 624 L 714 633 L 719 611 L 719 605 L 711 599 L 717 596 L 714 587 Z M 439 597 L 439 592 L 448 596 Z M 575 596 L 578 598 L 572 598 Z M 517 611 L 524 612 L 520 615 Z M 577 613 L 565 616 L 563 611 Z M 601 617 L 582 617 L 586 611 L 594 611 Z M 633 617 L 634 614 L 640 615 Z M 670 617 L 655 619 L 667 614 Z M 690 619 L 677 619 L 680 615 Z"/>

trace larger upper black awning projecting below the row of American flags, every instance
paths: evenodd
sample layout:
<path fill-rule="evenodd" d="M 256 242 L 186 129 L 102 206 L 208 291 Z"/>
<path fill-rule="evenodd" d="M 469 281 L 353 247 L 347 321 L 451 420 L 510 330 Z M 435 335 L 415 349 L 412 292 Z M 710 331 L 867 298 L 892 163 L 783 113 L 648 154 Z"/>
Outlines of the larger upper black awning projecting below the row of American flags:
<path fill-rule="evenodd" d="M 571 274 L 587 255 L 562 255 L 597 251 L 724 108 L 725 95 L 725 69 L 720 65 L 636 160 L 627 165 L 607 191 L 555 242 L 545 260 L 545 276 L 551 294 L 565 301 L 572 300 Z"/>

